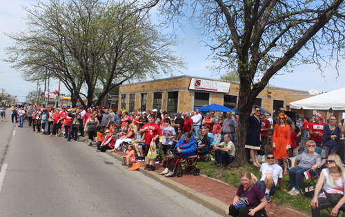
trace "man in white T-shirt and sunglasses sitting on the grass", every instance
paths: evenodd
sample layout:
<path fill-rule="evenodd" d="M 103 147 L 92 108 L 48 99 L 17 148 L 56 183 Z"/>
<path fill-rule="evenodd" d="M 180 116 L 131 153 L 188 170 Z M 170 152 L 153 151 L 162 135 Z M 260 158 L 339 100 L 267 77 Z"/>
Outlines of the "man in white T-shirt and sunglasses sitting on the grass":
<path fill-rule="evenodd" d="M 267 202 L 270 202 L 270 195 L 275 193 L 275 186 L 278 182 L 282 191 L 286 192 L 286 189 L 283 189 L 283 169 L 274 163 L 275 156 L 273 152 L 267 153 L 267 161 L 268 163 L 263 163 L 260 167 L 261 179 L 257 180 L 257 177 L 252 174 L 252 182 L 264 191 Z"/>

